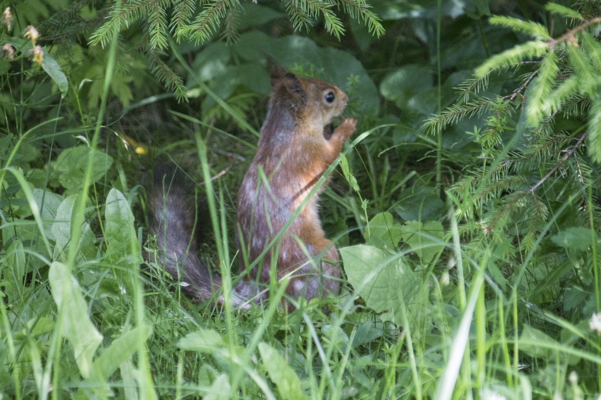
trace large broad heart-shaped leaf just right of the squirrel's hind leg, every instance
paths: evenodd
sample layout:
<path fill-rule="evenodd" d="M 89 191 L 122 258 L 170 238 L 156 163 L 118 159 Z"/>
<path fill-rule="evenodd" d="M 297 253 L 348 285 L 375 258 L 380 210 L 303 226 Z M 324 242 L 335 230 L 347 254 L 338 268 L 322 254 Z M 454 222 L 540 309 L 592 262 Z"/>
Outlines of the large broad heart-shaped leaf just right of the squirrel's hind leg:
<path fill-rule="evenodd" d="M 340 249 L 344 271 L 350 284 L 367 306 L 376 312 L 392 310 L 394 322 L 401 324 L 401 308 L 413 304 L 421 279 L 390 252 L 369 245 Z"/>

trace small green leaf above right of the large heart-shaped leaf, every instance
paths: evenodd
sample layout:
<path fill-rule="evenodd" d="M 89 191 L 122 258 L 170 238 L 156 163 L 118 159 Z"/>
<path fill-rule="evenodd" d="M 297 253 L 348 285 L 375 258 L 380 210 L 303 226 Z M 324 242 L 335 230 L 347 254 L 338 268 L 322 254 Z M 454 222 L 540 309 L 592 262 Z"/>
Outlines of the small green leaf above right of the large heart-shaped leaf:
<path fill-rule="evenodd" d="M 428 221 L 425 224 L 411 221 L 404 224 L 403 228 L 403 242 L 417 252 L 423 263 L 431 263 L 445 246 L 442 240 L 445 231 L 439 221 Z"/>

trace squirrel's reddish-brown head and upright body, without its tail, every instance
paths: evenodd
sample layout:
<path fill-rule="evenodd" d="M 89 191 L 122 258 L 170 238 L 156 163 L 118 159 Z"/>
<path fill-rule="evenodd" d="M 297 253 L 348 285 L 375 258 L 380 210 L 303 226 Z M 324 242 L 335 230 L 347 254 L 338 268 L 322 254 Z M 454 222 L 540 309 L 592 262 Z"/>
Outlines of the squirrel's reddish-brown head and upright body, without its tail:
<path fill-rule="evenodd" d="M 247 254 L 251 263 L 282 230 L 323 172 L 336 160 L 344 141 L 356 127 L 355 119 L 345 119 L 329 140 L 325 139 L 325 126 L 347 104 L 346 95 L 336 86 L 280 69 L 272 73 L 272 85 L 269 113 L 261 128 L 257 154 L 238 193 L 237 221 L 242 232 L 239 246 L 243 246 L 242 254 Z M 325 100 L 327 94 L 334 94 L 332 103 Z M 268 183 L 260 178 L 259 169 Z M 324 236 L 317 201 L 317 196 L 308 200 L 277 243 L 277 278 L 290 277 L 286 294 L 292 298 L 302 294 L 311 299 L 338 290 L 340 271 L 335 265 L 338 251 Z M 269 282 L 272 251 L 278 249 L 277 245 L 267 252 L 262 264 L 250 271 L 249 287 L 237 288 L 239 291 L 264 297 L 254 282 Z M 331 262 L 317 263 L 316 269 L 311 261 L 315 262 L 314 258 L 322 251 L 325 251 L 323 260 Z M 245 269 L 242 261 L 240 272 Z"/>

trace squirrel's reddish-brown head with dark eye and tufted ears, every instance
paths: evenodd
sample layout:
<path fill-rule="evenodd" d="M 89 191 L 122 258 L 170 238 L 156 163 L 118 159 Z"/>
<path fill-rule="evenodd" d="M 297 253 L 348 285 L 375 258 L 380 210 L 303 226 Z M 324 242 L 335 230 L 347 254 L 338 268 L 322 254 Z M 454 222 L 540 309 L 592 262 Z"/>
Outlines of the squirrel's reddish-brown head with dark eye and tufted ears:
<path fill-rule="evenodd" d="M 285 107 L 295 118 L 322 127 L 332 122 L 346 108 L 349 98 L 331 83 L 302 78 L 274 66 L 271 71 L 272 107 Z"/>

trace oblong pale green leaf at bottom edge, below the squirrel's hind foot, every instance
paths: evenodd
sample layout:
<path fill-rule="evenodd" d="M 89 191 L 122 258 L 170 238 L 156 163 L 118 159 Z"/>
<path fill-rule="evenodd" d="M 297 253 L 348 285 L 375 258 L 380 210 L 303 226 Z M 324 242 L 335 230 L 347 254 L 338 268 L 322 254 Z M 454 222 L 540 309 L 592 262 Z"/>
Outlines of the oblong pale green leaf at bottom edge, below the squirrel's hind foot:
<path fill-rule="evenodd" d="M 278 351 L 266 343 L 260 343 L 258 348 L 263 359 L 263 368 L 266 369 L 269 378 L 278 387 L 279 398 L 306 399 L 307 396 L 301 390 L 301 380 Z"/>

